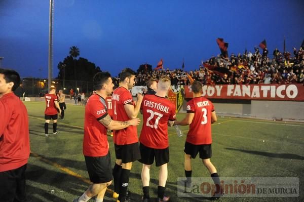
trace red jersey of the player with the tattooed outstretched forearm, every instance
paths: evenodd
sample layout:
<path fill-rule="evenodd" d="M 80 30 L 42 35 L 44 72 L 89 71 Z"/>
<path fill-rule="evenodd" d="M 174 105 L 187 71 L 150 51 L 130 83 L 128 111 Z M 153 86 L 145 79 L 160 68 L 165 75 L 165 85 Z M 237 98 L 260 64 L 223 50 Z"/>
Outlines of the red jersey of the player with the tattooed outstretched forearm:
<path fill-rule="evenodd" d="M 105 156 L 109 151 L 106 127 L 99 120 L 107 115 L 105 100 L 92 95 L 85 107 L 85 133 L 83 151 L 85 156 Z"/>

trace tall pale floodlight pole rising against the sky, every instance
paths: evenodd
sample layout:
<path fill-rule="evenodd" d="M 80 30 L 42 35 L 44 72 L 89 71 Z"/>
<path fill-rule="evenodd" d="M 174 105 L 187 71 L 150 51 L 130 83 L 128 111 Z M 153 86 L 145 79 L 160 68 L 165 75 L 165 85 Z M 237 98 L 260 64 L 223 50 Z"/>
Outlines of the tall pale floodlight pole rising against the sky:
<path fill-rule="evenodd" d="M 52 86 L 53 77 L 53 12 L 54 0 L 50 0 L 50 19 L 49 19 L 49 80 L 48 88 Z"/>

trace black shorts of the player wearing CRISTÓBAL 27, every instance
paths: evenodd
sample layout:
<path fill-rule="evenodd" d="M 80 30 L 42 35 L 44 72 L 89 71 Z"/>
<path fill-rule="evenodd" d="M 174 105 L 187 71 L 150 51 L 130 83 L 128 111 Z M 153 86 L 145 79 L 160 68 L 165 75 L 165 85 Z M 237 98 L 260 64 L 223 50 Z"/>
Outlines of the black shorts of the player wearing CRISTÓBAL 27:
<path fill-rule="evenodd" d="M 165 149 L 154 149 L 139 144 L 141 159 L 138 161 L 145 165 L 152 165 L 155 158 L 155 165 L 162 166 L 169 163 L 169 147 Z"/>

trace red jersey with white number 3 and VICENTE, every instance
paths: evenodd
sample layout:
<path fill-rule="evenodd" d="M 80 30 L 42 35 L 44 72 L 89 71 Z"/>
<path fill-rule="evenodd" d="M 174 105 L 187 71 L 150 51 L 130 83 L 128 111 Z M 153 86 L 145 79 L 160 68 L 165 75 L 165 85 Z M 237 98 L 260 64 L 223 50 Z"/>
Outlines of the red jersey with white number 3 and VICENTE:
<path fill-rule="evenodd" d="M 211 144 L 211 112 L 214 106 L 204 97 L 195 97 L 187 103 L 187 113 L 194 113 L 189 126 L 186 142 L 191 144 Z"/>

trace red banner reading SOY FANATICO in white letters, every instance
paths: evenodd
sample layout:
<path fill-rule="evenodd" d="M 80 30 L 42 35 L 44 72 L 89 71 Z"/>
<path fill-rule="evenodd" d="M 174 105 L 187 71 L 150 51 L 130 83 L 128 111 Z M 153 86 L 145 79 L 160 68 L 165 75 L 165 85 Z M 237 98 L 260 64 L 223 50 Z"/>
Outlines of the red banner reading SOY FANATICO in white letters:
<path fill-rule="evenodd" d="M 193 98 L 190 86 L 184 86 L 185 98 Z M 203 96 L 217 99 L 304 101 L 302 84 L 215 85 L 203 86 Z"/>

